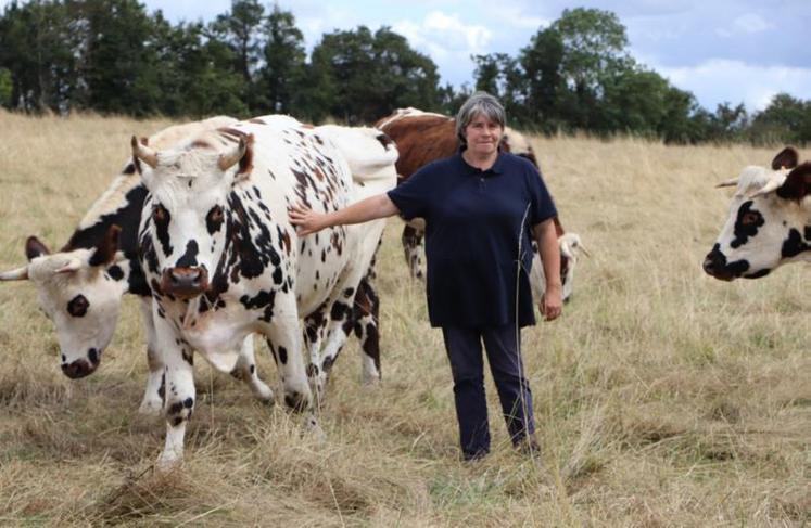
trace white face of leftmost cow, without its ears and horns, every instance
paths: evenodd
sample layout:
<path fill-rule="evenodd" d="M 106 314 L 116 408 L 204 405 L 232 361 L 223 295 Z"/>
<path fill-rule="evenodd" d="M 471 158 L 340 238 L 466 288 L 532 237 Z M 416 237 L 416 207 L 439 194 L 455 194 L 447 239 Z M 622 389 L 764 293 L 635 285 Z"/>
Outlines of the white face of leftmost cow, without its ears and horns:
<path fill-rule="evenodd" d="M 125 279 L 114 280 L 107 266 L 90 266 L 93 249 L 77 249 L 33 259 L 28 278 L 39 306 L 56 326 L 61 365 L 69 377 L 92 373 L 110 345 L 121 312 Z M 78 269 L 60 271 L 68 262 Z"/>

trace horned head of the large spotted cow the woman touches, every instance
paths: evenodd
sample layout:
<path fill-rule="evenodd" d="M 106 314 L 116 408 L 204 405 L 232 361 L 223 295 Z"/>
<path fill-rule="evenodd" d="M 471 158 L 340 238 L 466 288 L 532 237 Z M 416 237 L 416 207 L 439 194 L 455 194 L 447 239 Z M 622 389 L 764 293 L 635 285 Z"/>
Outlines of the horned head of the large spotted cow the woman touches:
<path fill-rule="evenodd" d="M 237 144 L 223 138 L 201 134 L 181 146 L 153 151 L 132 137 L 132 154 L 145 165 L 141 176 L 151 193 L 141 249 L 148 252 L 149 270 L 161 276 L 163 294 L 190 299 L 205 293 L 223 256 L 229 195 L 252 168 L 253 137 L 241 137 Z"/>

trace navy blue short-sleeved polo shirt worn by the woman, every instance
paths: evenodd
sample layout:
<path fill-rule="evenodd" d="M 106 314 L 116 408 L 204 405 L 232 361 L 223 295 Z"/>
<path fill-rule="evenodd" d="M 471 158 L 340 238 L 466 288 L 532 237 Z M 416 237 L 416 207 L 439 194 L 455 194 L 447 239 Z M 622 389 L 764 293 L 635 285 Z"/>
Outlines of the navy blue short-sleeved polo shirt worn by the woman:
<path fill-rule="evenodd" d="M 482 171 L 459 153 L 426 165 L 389 197 L 406 220 L 426 219 L 432 326 L 535 323 L 531 230 L 557 211 L 534 165 L 499 152 Z"/>

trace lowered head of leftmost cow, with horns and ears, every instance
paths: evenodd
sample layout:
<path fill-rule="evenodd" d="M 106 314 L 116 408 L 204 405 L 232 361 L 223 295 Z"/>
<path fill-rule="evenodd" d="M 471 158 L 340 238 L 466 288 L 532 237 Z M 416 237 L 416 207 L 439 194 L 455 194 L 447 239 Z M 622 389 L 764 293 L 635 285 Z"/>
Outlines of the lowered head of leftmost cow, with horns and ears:
<path fill-rule="evenodd" d="M 121 312 L 127 281 L 116 254 L 119 228 L 112 226 L 94 248 L 51 254 L 36 236 L 25 244 L 28 263 L 0 273 L 0 281 L 29 280 L 39 306 L 56 326 L 62 372 L 85 377 L 99 366 Z M 122 262 L 123 266 L 127 266 Z"/>

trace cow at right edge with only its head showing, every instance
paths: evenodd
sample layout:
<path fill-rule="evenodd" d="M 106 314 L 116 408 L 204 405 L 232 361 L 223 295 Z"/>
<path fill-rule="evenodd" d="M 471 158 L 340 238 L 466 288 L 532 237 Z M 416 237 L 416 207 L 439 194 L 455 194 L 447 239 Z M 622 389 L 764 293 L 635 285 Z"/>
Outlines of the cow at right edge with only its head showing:
<path fill-rule="evenodd" d="M 704 270 L 722 281 L 758 279 L 788 262 L 811 261 L 811 162 L 798 163 L 793 147 L 772 167 L 746 167 L 735 186 L 730 216 Z"/>

